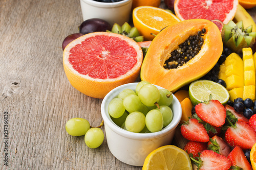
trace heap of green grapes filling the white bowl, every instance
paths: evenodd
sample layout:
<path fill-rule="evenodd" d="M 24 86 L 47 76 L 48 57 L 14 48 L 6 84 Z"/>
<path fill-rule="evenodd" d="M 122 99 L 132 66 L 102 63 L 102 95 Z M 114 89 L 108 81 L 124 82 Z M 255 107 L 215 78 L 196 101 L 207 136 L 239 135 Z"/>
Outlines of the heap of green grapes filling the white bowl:
<path fill-rule="evenodd" d="M 127 131 L 158 132 L 172 122 L 172 102 L 173 94 L 170 91 L 141 81 L 135 91 L 122 90 L 110 102 L 108 111 L 113 122 Z"/>

